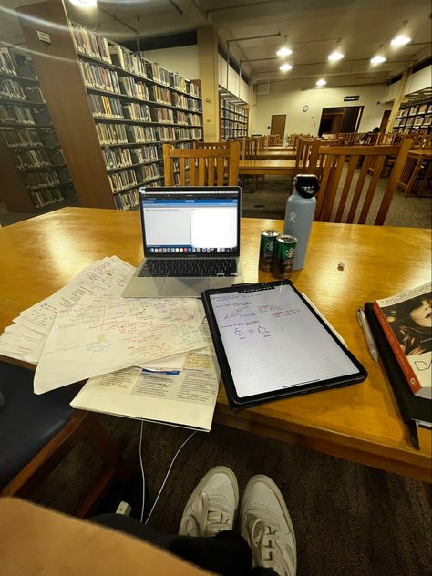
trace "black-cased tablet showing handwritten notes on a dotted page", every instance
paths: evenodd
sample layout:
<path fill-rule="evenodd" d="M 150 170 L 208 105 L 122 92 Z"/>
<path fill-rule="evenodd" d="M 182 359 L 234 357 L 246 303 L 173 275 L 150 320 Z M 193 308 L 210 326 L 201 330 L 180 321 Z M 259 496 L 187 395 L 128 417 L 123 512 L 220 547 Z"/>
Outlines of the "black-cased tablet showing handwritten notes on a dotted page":
<path fill-rule="evenodd" d="M 290 281 L 239 284 L 201 297 L 232 409 L 367 376 Z"/>

